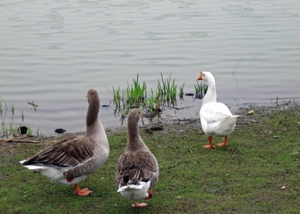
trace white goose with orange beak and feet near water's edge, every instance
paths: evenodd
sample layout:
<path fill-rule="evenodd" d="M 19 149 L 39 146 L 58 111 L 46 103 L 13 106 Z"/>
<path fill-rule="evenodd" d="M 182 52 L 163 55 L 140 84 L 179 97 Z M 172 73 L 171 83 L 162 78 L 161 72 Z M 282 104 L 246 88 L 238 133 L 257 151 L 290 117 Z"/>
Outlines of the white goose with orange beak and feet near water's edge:
<path fill-rule="evenodd" d="M 224 136 L 224 142 L 217 145 L 226 146 L 227 137 L 233 131 L 239 115 L 232 115 L 226 105 L 216 102 L 215 80 L 210 72 L 202 70 L 197 80 L 204 80 L 208 84 L 208 89 L 202 98 L 202 105 L 199 111 L 201 126 L 209 141 L 209 144 L 203 147 L 214 148 L 212 135 Z"/>

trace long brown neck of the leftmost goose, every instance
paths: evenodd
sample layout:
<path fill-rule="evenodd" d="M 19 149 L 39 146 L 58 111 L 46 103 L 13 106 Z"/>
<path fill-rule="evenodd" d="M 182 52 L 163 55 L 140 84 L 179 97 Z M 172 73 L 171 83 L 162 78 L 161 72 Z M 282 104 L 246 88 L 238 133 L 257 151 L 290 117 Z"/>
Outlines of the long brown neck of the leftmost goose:
<path fill-rule="evenodd" d="M 88 101 L 88 108 L 86 113 L 86 130 L 89 127 L 94 126 L 94 124 L 98 121 L 98 113 L 100 108 L 100 101 L 98 96 L 90 97 Z"/>

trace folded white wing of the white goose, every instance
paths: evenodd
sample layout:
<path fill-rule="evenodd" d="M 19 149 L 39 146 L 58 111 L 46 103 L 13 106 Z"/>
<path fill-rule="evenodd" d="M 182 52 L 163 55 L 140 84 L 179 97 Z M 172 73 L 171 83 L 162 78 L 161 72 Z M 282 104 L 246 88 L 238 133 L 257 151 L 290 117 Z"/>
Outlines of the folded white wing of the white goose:
<path fill-rule="evenodd" d="M 216 122 L 226 116 L 232 115 L 228 107 L 221 102 L 207 103 L 200 109 L 200 116 L 207 123 Z"/>

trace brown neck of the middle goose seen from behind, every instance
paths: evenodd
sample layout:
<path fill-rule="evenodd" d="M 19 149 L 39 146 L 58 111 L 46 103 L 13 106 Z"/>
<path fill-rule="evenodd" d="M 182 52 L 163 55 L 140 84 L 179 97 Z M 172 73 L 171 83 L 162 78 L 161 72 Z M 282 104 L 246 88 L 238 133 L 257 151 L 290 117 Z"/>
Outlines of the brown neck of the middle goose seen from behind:
<path fill-rule="evenodd" d="M 128 121 L 128 139 L 126 150 L 136 150 L 146 147 L 138 133 L 138 122 Z"/>

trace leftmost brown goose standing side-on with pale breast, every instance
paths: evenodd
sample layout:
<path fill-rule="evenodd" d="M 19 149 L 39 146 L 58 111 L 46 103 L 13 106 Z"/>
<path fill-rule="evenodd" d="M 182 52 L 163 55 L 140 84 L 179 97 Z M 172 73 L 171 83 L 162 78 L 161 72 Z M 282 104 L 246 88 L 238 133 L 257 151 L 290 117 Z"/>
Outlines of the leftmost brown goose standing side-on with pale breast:
<path fill-rule="evenodd" d="M 98 119 L 99 96 L 96 90 L 87 91 L 88 109 L 84 136 L 68 136 L 22 160 L 28 169 L 38 169 L 44 176 L 60 184 L 74 185 L 74 193 L 88 195 L 88 188 L 78 184 L 88 174 L 95 172 L 107 159 L 109 145 L 105 130 Z"/>

